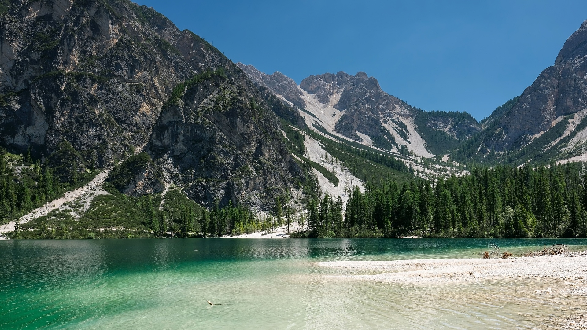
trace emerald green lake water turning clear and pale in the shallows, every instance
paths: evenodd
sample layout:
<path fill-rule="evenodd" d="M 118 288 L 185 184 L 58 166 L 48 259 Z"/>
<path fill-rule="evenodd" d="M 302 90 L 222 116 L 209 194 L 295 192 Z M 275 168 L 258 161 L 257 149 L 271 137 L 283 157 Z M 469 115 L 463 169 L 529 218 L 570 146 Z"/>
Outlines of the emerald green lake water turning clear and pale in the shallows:
<path fill-rule="evenodd" d="M 584 297 L 534 293 L 559 280 L 399 284 L 325 277 L 353 273 L 316 264 L 478 258 L 490 242 L 514 254 L 587 249 L 587 240 L 0 241 L 0 328 L 554 329 L 587 310 Z"/>

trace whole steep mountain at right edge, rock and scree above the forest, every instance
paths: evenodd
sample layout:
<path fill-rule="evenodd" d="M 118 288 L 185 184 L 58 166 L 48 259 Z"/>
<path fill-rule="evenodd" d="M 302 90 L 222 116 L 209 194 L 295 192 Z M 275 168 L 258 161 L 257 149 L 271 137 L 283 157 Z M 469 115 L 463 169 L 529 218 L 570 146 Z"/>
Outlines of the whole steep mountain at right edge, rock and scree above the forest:
<path fill-rule="evenodd" d="M 587 21 L 565 42 L 553 66 L 521 96 L 482 121 L 461 159 L 505 163 L 578 160 L 587 139 Z"/>

